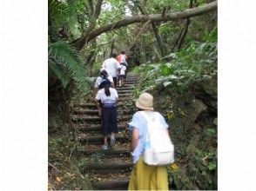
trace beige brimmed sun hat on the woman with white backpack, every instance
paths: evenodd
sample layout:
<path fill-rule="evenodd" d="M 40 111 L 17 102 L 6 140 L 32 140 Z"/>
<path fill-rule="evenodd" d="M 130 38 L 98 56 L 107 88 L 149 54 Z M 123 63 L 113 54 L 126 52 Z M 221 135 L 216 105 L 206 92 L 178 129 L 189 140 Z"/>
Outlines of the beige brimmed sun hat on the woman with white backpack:
<path fill-rule="evenodd" d="M 135 105 L 138 109 L 154 110 L 153 108 L 153 96 L 149 93 L 143 93 L 139 95 Z"/>

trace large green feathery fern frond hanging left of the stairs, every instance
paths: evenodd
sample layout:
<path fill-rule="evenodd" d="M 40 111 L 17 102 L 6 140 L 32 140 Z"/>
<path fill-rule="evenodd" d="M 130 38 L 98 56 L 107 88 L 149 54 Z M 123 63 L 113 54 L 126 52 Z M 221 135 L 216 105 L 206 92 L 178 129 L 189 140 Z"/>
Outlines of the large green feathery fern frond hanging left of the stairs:
<path fill-rule="evenodd" d="M 49 68 L 62 82 L 64 88 L 73 80 L 78 89 L 84 89 L 88 82 L 87 71 L 79 52 L 69 43 L 51 43 L 48 51 Z"/>

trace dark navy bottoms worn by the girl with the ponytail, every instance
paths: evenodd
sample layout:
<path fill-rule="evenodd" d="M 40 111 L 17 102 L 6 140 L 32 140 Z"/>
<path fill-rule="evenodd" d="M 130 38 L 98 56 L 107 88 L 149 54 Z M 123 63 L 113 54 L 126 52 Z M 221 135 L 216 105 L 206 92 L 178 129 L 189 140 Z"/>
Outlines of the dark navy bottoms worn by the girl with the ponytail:
<path fill-rule="evenodd" d="M 118 132 L 118 113 L 117 107 L 111 109 L 102 109 L 101 113 L 102 134 L 108 135 Z"/>

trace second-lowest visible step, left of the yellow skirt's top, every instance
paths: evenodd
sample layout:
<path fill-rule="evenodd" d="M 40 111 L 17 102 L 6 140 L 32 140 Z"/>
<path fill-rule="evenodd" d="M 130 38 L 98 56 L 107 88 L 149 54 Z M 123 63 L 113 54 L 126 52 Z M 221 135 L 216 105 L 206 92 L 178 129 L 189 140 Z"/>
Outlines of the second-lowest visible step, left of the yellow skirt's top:
<path fill-rule="evenodd" d="M 100 174 L 110 174 L 110 173 L 125 173 L 131 172 L 133 167 L 132 162 L 122 162 L 122 163 L 89 163 L 82 169 L 82 173 L 100 173 Z"/>

